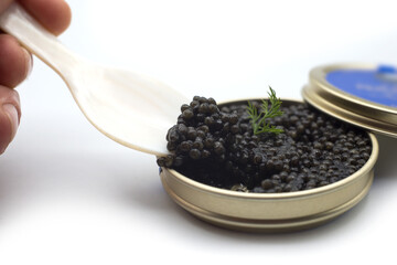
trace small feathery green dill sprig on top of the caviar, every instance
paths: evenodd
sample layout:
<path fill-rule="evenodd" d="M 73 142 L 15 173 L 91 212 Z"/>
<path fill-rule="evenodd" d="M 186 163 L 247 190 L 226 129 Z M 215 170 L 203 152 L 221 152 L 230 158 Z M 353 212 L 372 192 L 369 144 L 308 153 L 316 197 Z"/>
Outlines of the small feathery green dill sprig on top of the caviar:
<path fill-rule="evenodd" d="M 259 135 L 262 132 L 273 132 L 276 135 L 283 132 L 282 129 L 276 128 L 276 126 L 270 126 L 269 123 L 266 123 L 266 119 L 275 118 L 281 116 L 283 112 L 280 110 L 281 100 L 280 98 L 276 97 L 276 92 L 271 89 L 269 86 L 270 92 L 269 100 L 270 106 L 267 100 L 262 99 L 262 105 L 260 112 L 250 103 L 248 102 L 247 113 L 250 117 L 250 123 L 253 125 L 254 134 Z"/>

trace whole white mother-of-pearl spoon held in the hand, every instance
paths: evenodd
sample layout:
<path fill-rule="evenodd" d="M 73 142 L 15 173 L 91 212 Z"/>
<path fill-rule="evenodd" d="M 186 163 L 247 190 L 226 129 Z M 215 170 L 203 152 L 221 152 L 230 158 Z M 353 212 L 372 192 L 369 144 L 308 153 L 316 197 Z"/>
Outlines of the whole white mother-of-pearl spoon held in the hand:
<path fill-rule="evenodd" d="M 168 153 L 165 135 L 187 102 L 183 95 L 147 76 L 87 62 L 65 49 L 18 3 L 0 15 L 0 28 L 64 80 L 99 131 L 139 151 Z"/>

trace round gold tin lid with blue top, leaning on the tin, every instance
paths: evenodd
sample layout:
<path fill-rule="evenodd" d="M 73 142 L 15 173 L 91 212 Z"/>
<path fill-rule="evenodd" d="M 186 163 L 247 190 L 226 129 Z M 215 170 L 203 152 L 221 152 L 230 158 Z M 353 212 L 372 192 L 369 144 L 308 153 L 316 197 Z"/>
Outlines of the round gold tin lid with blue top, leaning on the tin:
<path fill-rule="evenodd" d="M 302 96 L 310 105 L 346 123 L 397 137 L 397 68 L 333 64 L 313 68 Z"/>

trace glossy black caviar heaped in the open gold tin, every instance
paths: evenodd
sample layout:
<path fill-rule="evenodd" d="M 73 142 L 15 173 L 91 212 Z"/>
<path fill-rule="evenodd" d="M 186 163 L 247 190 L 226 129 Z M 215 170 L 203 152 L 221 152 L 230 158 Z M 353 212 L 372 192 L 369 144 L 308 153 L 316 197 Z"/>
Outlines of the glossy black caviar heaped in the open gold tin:
<path fill-rule="evenodd" d="M 282 104 L 283 115 L 268 120 L 283 132 L 254 135 L 247 105 L 195 96 L 181 107 L 167 135 L 171 155 L 158 165 L 216 188 L 275 193 L 334 183 L 371 156 L 365 131 L 304 103 Z"/>

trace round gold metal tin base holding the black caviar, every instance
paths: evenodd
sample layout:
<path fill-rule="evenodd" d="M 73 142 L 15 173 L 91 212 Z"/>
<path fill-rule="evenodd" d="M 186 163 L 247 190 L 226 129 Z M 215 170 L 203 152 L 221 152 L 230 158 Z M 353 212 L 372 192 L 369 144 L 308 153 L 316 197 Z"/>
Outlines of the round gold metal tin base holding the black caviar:
<path fill-rule="evenodd" d="M 245 100 L 246 102 L 246 100 Z M 282 100 L 285 105 L 296 100 Z M 168 194 L 198 219 L 240 231 L 282 232 L 316 226 L 346 212 L 368 192 L 378 157 L 378 142 L 368 134 L 372 155 L 352 176 L 335 183 L 307 191 L 244 193 L 213 188 L 162 168 Z"/>

